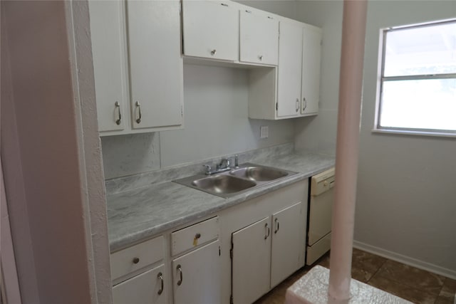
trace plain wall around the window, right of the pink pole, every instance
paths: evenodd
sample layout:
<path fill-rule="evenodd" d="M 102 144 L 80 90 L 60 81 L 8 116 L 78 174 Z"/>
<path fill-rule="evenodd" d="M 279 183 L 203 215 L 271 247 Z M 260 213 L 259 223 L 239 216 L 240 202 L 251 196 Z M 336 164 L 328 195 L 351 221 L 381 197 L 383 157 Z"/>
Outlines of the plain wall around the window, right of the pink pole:
<path fill-rule="evenodd" d="M 456 1 L 369 2 L 355 231 L 356 241 L 448 269 L 453 276 L 456 140 L 379 135 L 371 129 L 379 29 L 455 16 Z"/>

